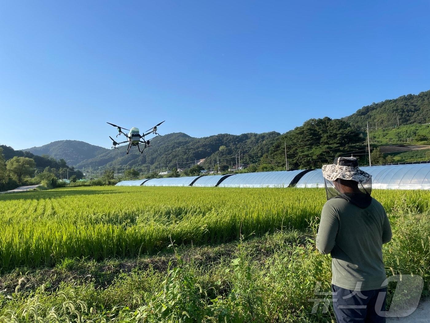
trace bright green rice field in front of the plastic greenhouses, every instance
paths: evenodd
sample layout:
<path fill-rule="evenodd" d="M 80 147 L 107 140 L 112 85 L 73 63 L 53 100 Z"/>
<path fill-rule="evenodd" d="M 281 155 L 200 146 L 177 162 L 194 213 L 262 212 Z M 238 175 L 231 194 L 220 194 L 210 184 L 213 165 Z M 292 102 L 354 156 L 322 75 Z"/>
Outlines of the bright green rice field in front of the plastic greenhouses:
<path fill-rule="evenodd" d="M 390 211 L 427 212 L 429 191 L 374 190 Z M 0 267 L 132 258 L 318 222 L 324 189 L 80 187 L 0 196 Z"/>

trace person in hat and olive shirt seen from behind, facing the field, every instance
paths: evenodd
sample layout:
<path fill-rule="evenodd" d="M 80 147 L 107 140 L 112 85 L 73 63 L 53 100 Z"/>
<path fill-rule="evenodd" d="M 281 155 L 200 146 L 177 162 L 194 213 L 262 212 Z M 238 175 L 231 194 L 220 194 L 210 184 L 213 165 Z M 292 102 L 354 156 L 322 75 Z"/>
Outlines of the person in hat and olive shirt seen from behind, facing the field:
<path fill-rule="evenodd" d="M 333 309 L 338 323 L 384 323 L 387 294 L 382 245 L 391 226 L 373 199 L 372 176 L 355 157 L 322 166 L 327 202 L 322 208 L 316 248 L 332 256 Z M 382 297 L 378 295 L 382 293 Z"/>

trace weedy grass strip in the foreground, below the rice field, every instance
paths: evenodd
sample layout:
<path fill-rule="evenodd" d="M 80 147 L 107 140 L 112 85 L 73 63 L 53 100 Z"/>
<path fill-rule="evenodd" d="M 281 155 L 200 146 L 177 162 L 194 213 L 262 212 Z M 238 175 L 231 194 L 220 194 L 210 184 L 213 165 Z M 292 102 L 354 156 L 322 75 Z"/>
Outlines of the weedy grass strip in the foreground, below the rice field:
<path fill-rule="evenodd" d="M 387 275 L 420 274 L 428 295 L 428 216 L 406 211 L 392 213 L 390 221 L 394 238 L 383 250 Z M 331 258 L 316 251 L 313 238 L 312 231 L 283 231 L 221 245 L 170 246 L 130 260 L 68 259 L 52 268 L 17 268 L 1 276 L 0 317 L 4 322 L 46 321 L 54 314 L 83 322 L 331 322 L 331 309 L 319 306 L 312 313 L 309 301 L 316 298 L 317 282 L 321 291 L 330 290 L 331 276 Z"/>

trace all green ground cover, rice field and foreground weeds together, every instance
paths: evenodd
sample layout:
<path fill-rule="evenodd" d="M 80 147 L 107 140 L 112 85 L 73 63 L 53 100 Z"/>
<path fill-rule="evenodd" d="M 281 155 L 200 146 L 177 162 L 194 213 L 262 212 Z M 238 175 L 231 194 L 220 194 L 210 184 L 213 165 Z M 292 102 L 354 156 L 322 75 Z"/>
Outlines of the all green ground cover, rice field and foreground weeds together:
<path fill-rule="evenodd" d="M 374 190 L 387 275 L 430 282 L 430 192 Z M 0 196 L 1 322 L 331 322 L 323 189 L 90 187 Z M 390 287 L 390 295 L 393 286 Z"/>

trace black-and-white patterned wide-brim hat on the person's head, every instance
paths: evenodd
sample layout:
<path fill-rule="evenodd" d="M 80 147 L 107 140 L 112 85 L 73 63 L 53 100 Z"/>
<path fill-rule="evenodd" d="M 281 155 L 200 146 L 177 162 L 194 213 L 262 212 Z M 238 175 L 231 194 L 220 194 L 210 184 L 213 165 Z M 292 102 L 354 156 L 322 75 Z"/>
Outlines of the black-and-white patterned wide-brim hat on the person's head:
<path fill-rule="evenodd" d="M 371 174 L 359 169 L 358 161 L 355 157 L 336 157 L 333 164 L 322 166 L 322 176 L 330 181 L 341 178 L 343 180 L 354 180 L 358 183 L 367 182 L 372 178 Z"/>

